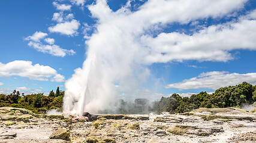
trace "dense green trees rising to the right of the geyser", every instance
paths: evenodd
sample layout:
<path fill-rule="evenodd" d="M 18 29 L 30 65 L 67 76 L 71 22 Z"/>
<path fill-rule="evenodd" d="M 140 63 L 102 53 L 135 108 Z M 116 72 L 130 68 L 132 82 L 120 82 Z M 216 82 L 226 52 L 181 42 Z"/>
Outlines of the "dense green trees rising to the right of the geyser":
<path fill-rule="evenodd" d="M 180 97 L 172 94 L 170 97 L 162 97 L 160 101 L 155 101 L 153 110 L 156 113 L 167 111 L 170 113 L 184 113 L 200 107 L 224 108 L 241 107 L 243 104 L 252 104 L 256 101 L 256 86 L 247 82 L 236 86 L 219 88 L 213 94 L 200 92 L 188 97 Z"/>

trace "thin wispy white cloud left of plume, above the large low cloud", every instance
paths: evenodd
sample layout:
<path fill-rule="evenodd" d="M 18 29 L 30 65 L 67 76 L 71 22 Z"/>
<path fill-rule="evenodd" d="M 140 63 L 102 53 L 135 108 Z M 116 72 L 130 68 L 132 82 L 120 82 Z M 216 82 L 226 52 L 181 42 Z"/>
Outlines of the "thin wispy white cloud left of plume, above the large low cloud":
<path fill-rule="evenodd" d="M 43 45 L 38 42 L 32 42 L 30 41 L 28 43 L 29 46 L 32 46 L 33 48 L 37 49 L 37 51 L 43 52 L 43 53 L 49 53 L 51 55 L 55 55 L 57 57 L 65 57 L 65 55 L 73 55 L 76 52 L 74 52 L 73 49 L 62 49 L 58 45 Z"/>

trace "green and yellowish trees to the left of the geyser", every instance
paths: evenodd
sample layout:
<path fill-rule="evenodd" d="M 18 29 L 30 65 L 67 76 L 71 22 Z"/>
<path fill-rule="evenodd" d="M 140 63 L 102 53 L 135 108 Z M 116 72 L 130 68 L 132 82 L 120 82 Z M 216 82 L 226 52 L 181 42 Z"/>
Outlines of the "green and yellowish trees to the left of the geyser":
<path fill-rule="evenodd" d="M 53 90 L 48 96 L 43 93 L 20 95 L 19 91 L 14 90 L 9 95 L 0 94 L 0 107 L 11 106 L 26 108 L 34 113 L 46 113 L 47 110 L 57 109 L 62 110 L 62 100 L 64 97 L 64 91 L 60 91 L 59 87 L 56 92 Z"/>

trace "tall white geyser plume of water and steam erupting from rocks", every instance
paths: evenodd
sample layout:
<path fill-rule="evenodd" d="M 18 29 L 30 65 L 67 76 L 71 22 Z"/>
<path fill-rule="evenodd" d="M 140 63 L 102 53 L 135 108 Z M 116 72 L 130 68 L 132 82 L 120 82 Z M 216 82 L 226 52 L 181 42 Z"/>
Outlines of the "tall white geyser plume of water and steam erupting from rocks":
<path fill-rule="evenodd" d="M 148 52 L 139 43 L 143 30 L 124 14 L 127 7 L 114 13 L 106 1 L 97 1 L 89 10 L 98 19 L 97 31 L 86 41 L 87 58 L 82 69 L 76 69 L 65 83 L 64 111 L 80 115 L 115 108 L 115 85 L 134 87 L 149 75 L 141 66 Z"/>

